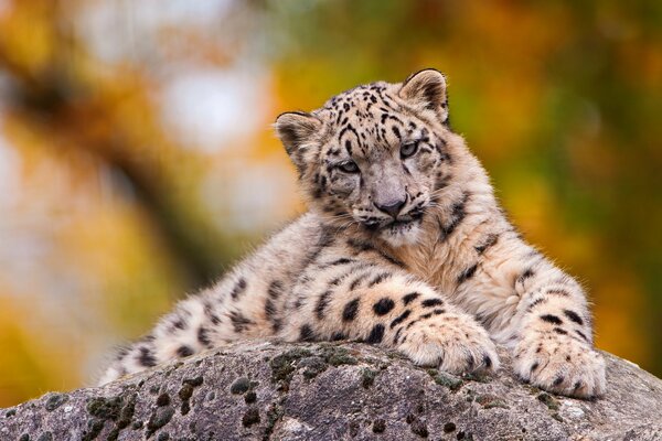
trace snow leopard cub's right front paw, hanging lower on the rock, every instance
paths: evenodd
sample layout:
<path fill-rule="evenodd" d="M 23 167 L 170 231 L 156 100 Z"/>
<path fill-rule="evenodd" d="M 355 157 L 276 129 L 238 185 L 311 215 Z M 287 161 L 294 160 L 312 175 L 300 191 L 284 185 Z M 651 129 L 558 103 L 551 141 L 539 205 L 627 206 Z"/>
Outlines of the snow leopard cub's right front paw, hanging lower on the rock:
<path fill-rule="evenodd" d="M 568 335 L 523 338 L 515 347 L 513 368 L 525 381 L 568 397 L 594 398 L 606 389 L 602 356 Z"/>

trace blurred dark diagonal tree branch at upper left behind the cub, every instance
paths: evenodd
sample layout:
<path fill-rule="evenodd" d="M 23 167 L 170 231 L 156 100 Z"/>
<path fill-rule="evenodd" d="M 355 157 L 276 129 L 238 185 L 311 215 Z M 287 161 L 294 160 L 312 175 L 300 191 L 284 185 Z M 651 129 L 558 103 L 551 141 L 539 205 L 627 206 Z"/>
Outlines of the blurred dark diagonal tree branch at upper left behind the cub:
<path fill-rule="evenodd" d="M 45 28 L 42 32 L 51 41 L 34 62 L 22 56 L 24 42 L 12 39 L 17 35 L 11 31 L 0 37 L 0 69 L 11 83 L 7 112 L 31 130 L 46 133 L 54 148 L 90 153 L 111 175 L 122 176 L 117 186 L 147 214 L 191 289 L 217 278 L 229 258 L 226 240 L 196 198 L 182 194 L 178 166 L 183 158 L 191 161 L 192 153 L 173 144 L 159 128 L 146 78 L 126 66 L 95 65 L 65 31 L 65 11 L 56 2 L 14 6 L 21 8 L 28 11 L 17 14 L 38 20 L 32 25 Z M 10 15 L 4 22 L 21 19 L 25 18 Z M 126 115 L 127 101 L 139 112 Z"/>

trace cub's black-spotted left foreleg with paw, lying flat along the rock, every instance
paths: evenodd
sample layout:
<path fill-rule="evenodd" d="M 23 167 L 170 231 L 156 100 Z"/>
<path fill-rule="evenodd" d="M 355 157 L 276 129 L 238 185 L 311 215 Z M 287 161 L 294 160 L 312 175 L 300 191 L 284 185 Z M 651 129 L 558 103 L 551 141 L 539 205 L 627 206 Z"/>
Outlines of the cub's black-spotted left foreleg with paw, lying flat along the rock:
<path fill-rule="evenodd" d="M 427 283 L 387 265 L 342 261 L 322 277 L 301 278 L 285 340 L 359 340 L 449 373 L 499 367 L 488 332 Z"/>

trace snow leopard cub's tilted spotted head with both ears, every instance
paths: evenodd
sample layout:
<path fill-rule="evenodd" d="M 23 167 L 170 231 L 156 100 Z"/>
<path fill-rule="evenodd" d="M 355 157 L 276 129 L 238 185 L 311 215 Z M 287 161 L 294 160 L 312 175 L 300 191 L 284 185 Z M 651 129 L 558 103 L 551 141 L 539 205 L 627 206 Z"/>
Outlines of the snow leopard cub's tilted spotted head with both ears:
<path fill-rule="evenodd" d="M 311 114 L 284 114 L 276 127 L 311 205 L 331 223 L 356 225 L 392 246 L 417 240 L 449 178 L 440 73 L 360 86 Z"/>

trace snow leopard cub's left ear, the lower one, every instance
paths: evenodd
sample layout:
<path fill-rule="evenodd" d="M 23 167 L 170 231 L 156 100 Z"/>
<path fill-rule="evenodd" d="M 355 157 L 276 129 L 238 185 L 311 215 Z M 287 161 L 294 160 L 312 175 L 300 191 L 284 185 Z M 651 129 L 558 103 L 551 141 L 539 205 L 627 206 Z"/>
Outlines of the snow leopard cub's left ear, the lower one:
<path fill-rule="evenodd" d="M 305 111 L 287 111 L 276 118 L 274 126 L 287 154 L 302 171 L 311 141 L 321 131 L 322 121 Z"/>

